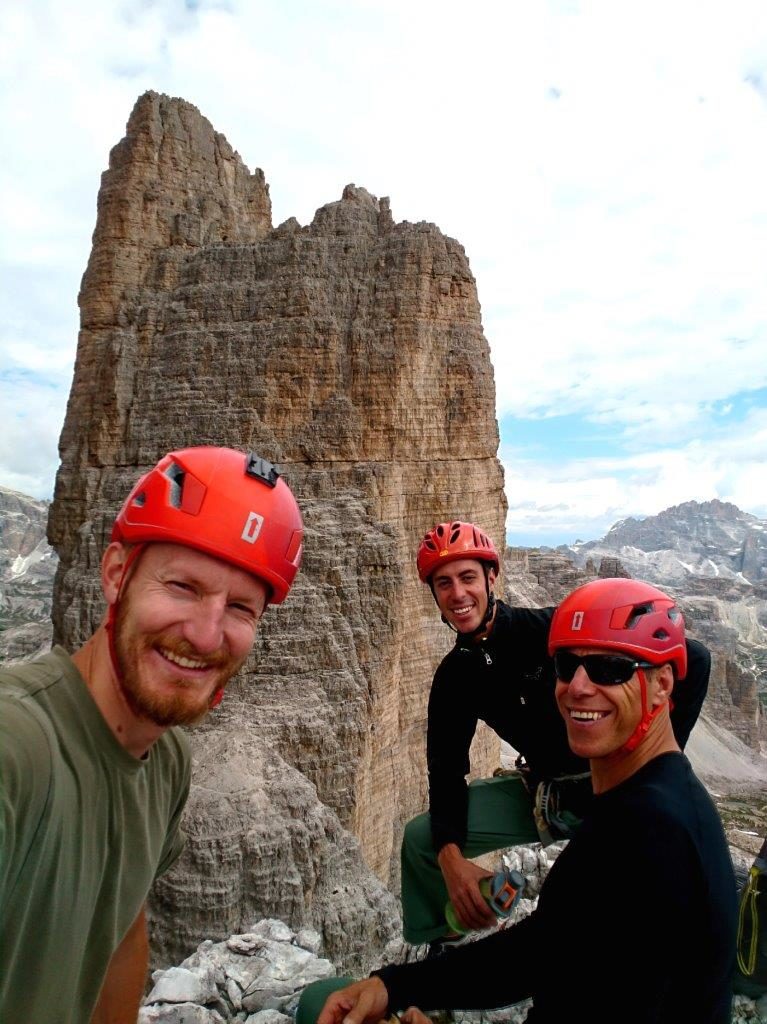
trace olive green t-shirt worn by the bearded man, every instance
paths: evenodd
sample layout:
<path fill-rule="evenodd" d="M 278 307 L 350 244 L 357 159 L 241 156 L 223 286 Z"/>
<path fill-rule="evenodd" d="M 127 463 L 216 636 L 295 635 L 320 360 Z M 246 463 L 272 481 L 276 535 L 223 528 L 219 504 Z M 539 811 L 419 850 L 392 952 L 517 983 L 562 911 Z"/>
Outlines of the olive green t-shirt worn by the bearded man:
<path fill-rule="evenodd" d="M 0 670 L 0 1021 L 85 1024 L 112 953 L 183 847 L 188 745 L 137 760 L 67 652 Z"/>

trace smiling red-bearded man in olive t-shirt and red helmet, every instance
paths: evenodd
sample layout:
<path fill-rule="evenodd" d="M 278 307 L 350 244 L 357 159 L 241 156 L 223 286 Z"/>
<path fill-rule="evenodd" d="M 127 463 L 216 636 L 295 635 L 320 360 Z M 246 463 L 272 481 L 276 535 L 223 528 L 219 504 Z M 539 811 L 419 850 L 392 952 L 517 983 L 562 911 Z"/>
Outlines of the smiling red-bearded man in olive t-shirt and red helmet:
<path fill-rule="evenodd" d="M 135 1022 L 143 903 L 179 856 L 189 754 L 178 725 L 220 702 L 301 559 L 295 499 L 229 449 L 166 456 L 101 562 L 108 610 L 0 672 L 0 1018 Z"/>

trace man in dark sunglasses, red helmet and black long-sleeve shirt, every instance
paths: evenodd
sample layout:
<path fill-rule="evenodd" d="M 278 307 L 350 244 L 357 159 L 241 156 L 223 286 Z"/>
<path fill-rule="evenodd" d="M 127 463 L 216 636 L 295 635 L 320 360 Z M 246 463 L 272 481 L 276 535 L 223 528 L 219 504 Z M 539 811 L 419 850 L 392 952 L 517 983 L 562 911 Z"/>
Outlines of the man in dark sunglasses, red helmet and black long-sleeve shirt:
<path fill-rule="evenodd" d="M 735 880 L 716 808 L 671 723 L 687 670 L 681 613 L 654 587 L 597 580 L 558 607 L 548 650 L 552 700 L 573 753 L 589 761 L 595 797 L 537 909 L 334 992 L 317 1024 L 527 996 L 527 1024 L 729 1021 Z"/>

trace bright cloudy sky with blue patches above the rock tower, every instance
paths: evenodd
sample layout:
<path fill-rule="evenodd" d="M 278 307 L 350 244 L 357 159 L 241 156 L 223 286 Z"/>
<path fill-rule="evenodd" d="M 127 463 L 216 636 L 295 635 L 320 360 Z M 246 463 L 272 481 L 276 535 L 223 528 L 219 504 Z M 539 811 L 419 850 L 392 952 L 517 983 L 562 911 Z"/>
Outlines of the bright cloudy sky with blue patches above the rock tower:
<path fill-rule="evenodd" d="M 767 517 L 764 0 L 3 0 L 0 486 L 52 493 L 99 175 L 148 88 L 263 168 L 275 224 L 353 181 L 461 241 L 512 543 Z"/>

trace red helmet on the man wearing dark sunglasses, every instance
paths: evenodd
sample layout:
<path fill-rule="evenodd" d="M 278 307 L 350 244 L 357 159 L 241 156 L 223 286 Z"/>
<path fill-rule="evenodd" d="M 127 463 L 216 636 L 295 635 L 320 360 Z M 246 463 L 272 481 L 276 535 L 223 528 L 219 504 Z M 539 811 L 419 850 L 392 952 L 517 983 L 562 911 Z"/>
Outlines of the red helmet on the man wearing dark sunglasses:
<path fill-rule="evenodd" d="M 602 647 L 652 665 L 671 662 L 687 674 L 684 618 L 676 602 L 640 580 L 594 580 L 569 594 L 554 612 L 549 654 L 561 647 Z"/>

